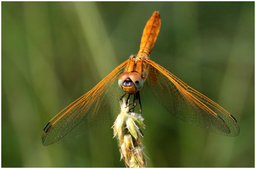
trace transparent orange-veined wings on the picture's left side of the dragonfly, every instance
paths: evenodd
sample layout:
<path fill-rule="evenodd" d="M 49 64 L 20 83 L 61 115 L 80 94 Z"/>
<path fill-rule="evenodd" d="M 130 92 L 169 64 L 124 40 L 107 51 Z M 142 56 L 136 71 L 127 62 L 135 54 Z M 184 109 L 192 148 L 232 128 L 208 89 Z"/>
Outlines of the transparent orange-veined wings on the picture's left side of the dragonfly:
<path fill-rule="evenodd" d="M 120 111 L 118 99 L 123 93 L 117 79 L 127 62 L 120 64 L 93 89 L 51 119 L 42 132 L 43 144 L 49 145 L 79 136 L 111 120 L 113 123 Z"/>

